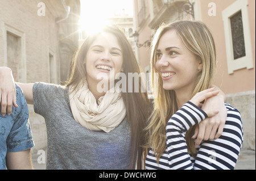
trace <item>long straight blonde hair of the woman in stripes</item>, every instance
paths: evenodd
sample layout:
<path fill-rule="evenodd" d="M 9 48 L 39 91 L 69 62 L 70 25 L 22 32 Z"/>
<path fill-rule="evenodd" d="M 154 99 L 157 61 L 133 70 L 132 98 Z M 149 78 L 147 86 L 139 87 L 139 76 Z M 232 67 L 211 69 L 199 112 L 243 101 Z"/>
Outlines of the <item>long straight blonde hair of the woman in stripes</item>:
<path fill-rule="evenodd" d="M 175 30 L 177 35 L 183 41 L 184 45 L 196 56 L 198 56 L 202 63 L 203 69 L 199 71 L 197 76 L 197 82 L 193 95 L 197 92 L 208 89 L 213 85 L 213 77 L 216 71 L 216 49 L 214 40 L 209 29 L 204 23 L 181 20 L 171 24 L 163 24 L 156 31 L 155 37 L 152 41 L 151 49 L 151 74 L 158 73 L 155 67 L 156 63 L 156 49 L 158 48 L 159 40 L 164 33 L 170 30 Z M 152 147 L 152 150 L 156 154 L 157 161 L 159 162 L 160 156 L 167 148 L 166 145 L 166 125 L 171 116 L 178 110 L 176 103 L 176 96 L 174 90 L 164 90 L 163 81 L 158 74 L 158 80 L 151 77 L 153 93 L 158 92 L 158 95 L 154 95 L 154 111 L 151 113 L 146 131 L 148 142 L 146 148 Z M 154 82 L 159 82 L 158 85 L 154 85 Z M 191 96 L 191 98 L 192 98 Z M 186 133 L 186 141 L 188 145 L 189 153 L 193 156 L 196 154 L 194 141 L 191 139 L 195 127 L 189 129 Z"/>

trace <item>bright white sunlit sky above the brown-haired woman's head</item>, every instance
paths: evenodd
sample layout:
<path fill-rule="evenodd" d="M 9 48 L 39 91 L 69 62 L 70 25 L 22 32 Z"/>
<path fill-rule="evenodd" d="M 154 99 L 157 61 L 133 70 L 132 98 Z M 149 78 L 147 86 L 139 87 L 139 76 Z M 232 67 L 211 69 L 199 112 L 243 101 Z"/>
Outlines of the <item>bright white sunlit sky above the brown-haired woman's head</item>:
<path fill-rule="evenodd" d="M 102 24 L 106 18 L 114 14 L 133 15 L 133 0 L 80 0 L 81 18 L 83 28 Z"/>

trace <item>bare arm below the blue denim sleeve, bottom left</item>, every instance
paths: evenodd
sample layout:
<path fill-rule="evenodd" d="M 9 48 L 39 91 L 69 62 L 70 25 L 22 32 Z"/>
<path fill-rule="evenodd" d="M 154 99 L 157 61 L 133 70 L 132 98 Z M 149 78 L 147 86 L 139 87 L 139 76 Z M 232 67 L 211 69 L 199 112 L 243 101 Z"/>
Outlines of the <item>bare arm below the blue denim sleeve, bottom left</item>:
<path fill-rule="evenodd" d="M 6 167 L 8 170 L 32 170 L 31 149 L 18 152 L 7 152 Z"/>

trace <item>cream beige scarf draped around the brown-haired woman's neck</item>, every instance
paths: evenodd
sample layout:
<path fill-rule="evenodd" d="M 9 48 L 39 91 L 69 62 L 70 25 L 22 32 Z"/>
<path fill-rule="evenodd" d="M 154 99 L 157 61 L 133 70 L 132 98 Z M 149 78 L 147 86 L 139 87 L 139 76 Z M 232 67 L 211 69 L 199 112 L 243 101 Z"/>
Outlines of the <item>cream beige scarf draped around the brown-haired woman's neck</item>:
<path fill-rule="evenodd" d="M 115 87 L 98 99 L 98 104 L 87 82 L 78 91 L 69 87 L 69 100 L 75 120 L 91 131 L 110 132 L 126 116 L 125 104 Z"/>

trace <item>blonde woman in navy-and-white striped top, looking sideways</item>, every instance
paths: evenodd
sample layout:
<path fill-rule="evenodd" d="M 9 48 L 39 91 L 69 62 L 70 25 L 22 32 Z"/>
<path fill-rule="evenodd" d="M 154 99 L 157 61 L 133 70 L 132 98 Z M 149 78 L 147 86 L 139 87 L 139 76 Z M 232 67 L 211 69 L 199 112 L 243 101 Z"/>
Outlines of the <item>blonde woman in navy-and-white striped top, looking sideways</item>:
<path fill-rule="evenodd" d="M 201 121 L 219 113 L 201 107 L 218 94 L 209 89 L 216 50 L 205 24 L 179 21 L 160 27 L 152 44 L 151 70 L 159 73 L 159 85 L 152 77 L 158 96 L 146 129 L 146 169 L 234 169 L 243 141 L 236 108 L 225 104 L 228 116 L 220 137 L 210 136 L 200 145 L 192 138 Z"/>

